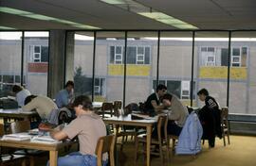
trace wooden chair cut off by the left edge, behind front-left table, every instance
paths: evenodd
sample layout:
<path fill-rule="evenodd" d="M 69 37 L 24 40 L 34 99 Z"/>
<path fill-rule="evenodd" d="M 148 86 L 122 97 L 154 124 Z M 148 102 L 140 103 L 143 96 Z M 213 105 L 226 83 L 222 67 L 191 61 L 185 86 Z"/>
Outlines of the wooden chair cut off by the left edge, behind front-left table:
<path fill-rule="evenodd" d="M 0 137 L 4 135 L 4 125 L 0 124 Z M 15 166 L 15 165 L 22 165 L 26 166 L 26 156 L 23 155 L 13 155 L 13 154 L 4 154 L 3 149 L 1 148 L 1 155 L 0 155 L 0 166 Z"/>

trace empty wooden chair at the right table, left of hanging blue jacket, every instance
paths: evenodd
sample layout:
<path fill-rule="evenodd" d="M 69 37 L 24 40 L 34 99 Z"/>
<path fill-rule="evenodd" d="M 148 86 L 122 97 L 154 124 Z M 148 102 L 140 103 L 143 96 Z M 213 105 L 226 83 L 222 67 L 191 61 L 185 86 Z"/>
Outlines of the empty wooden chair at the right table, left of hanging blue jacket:
<path fill-rule="evenodd" d="M 157 120 L 157 139 L 152 138 L 151 145 L 156 145 L 159 147 L 159 152 L 151 151 L 151 154 L 158 155 L 161 158 L 161 165 L 164 165 L 164 158 L 163 158 L 163 146 L 166 146 L 166 156 L 168 161 L 170 160 L 169 155 L 169 143 L 168 143 L 168 137 L 167 137 L 167 122 L 168 118 L 166 115 L 159 115 Z M 162 137 L 162 127 L 164 128 L 164 137 Z M 138 149 L 138 143 L 142 142 L 143 144 L 146 143 L 146 135 L 141 134 L 136 137 L 136 156 L 135 156 L 135 165 L 137 165 L 137 149 Z M 143 153 L 145 151 L 143 150 Z"/>

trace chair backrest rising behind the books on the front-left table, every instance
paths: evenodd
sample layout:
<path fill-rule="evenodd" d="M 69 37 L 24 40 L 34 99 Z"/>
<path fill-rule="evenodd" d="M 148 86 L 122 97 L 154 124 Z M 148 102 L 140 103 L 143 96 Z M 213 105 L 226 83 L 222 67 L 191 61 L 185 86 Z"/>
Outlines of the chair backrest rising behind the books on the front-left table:
<path fill-rule="evenodd" d="M 10 124 L 10 133 L 27 132 L 30 129 L 29 121 L 15 121 Z"/>

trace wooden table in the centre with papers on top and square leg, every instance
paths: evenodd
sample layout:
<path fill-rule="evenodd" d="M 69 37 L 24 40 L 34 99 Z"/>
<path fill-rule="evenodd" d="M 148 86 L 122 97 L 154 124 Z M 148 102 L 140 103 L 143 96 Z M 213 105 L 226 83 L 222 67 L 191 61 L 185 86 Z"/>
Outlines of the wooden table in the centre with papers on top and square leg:
<path fill-rule="evenodd" d="M 113 124 L 116 126 L 117 133 L 119 133 L 119 125 L 134 125 L 134 126 L 142 126 L 146 127 L 147 130 L 147 166 L 150 166 L 150 145 L 151 145 L 151 133 L 152 127 L 157 122 L 157 117 L 144 119 L 144 120 L 132 120 L 131 115 L 128 116 L 119 116 L 119 117 L 111 117 L 103 119 L 105 124 Z"/>

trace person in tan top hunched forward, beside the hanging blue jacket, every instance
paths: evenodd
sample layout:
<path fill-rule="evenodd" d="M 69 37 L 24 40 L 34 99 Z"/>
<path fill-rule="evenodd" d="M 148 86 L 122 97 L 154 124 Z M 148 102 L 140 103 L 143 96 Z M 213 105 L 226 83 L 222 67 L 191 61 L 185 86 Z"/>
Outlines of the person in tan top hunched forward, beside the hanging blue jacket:
<path fill-rule="evenodd" d="M 189 115 L 188 108 L 183 106 L 183 104 L 174 94 L 170 93 L 166 93 L 163 95 L 162 102 L 163 106 L 167 109 L 158 111 L 158 113 L 164 112 L 168 115 L 169 121 L 167 125 L 167 133 L 169 135 L 179 136 L 183 128 L 183 125 L 185 125 L 185 122 Z M 156 129 L 153 131 L 152 135 L 154 138 L 157 137 Z"/>

